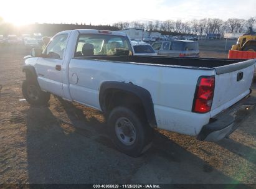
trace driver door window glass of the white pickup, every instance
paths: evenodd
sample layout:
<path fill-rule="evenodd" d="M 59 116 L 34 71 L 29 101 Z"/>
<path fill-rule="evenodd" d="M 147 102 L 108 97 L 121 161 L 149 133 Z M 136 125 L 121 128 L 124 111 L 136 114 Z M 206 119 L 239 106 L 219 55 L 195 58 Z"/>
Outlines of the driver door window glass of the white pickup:
<path fill-rule="evenodd" d="M 47 48 L 45 48 L 43 54 L 46 55 L 47 58 L 62 59 L 67 46 L 67 36 L 67 34 L 55 36 L 54 39 L 50 41 Z"/>

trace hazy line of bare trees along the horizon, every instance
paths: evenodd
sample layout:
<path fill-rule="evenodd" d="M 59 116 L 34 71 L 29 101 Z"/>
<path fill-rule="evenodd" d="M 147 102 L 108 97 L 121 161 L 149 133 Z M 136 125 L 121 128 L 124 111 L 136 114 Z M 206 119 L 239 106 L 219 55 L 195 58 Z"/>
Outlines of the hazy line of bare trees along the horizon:
<path fill-rule="evenodd" d="M 168 19 L 166 21 L 132 21 L 132 22 L 116 22 L 112 25 L 86 25 L 85 23 L 75 24 L 29 24 L 19 28 L 12 24 L 4 22 L 0 17 L 0 34 L 22 34 L 41 32 L 42 34 L 53 35 L 56 32 L 69 29 L 103 29 L 103 30 L 122 30 L 122 29 L 144 29 L 148 31 L 161 32 L 163 35 L 206 35 L 206 34 L 224 34 L 228 33 L 244 33 L 249 30 L 249 27 L 254 27 L 256 17 L 249 19 L 192 19 L 191 21 L 177 21 Z"/>

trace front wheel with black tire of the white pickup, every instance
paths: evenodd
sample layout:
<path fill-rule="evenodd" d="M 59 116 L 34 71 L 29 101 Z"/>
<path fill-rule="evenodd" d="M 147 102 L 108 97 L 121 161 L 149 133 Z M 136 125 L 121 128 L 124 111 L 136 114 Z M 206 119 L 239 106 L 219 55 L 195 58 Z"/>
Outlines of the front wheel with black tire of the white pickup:
<path fill-rule="evenodd" d="M 45 105 L 48 103 L 50 99 L 50 93 L 40 90 L 40 86 L 35 81 L 32 81 L 32 80 L 23 81 L 22 94 L 24 98 L 27 100 L 27 102 L 34 106 Z"/>

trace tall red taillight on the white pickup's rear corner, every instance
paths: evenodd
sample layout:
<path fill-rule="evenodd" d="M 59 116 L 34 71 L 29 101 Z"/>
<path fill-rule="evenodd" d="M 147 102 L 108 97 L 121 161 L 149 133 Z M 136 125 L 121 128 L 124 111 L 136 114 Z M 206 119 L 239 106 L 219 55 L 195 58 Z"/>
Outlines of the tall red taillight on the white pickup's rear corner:
<path fill-rule="evenodd" d="M 195 113 L 207 113 L 211 111 L 214 96 L 214 76 L 201 76 L 197 81 L 196 93 L 192 111 Z"/>

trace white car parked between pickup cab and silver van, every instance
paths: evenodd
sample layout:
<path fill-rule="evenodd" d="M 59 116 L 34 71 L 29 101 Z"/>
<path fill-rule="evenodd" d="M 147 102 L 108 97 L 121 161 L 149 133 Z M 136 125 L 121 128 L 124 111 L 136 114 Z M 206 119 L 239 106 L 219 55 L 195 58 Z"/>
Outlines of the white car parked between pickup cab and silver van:
<path fill-rule="evenodd" d="M 157 55 L 154 48 L 145 42 L 131 41 L 131 45 L 133 46 L 133 50 L 135 52 L 134 55 Z"/>

